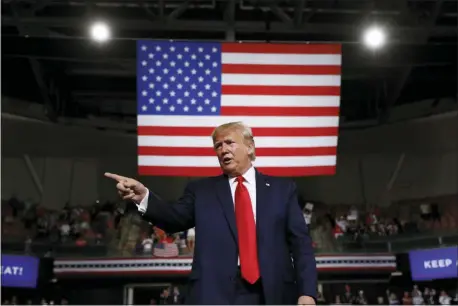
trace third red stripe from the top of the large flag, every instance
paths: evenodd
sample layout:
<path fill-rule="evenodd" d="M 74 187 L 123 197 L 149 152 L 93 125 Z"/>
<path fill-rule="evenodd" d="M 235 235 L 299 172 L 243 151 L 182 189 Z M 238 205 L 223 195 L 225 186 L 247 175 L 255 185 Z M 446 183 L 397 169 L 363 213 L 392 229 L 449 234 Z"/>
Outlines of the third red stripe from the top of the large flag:
<path fill-rule="evenodd" d="M 339 96 L 340 86 L 223 85 L 223 95 Z"/>

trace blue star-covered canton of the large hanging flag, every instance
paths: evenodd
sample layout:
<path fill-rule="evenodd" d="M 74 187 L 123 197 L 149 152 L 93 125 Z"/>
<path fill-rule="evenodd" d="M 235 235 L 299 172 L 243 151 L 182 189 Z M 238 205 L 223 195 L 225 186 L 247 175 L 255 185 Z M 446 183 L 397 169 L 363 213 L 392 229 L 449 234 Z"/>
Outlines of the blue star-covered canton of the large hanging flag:
<path fill-rule="evenodd" d="M 139 115 L 219 115 L 221 45 L 137 42 Z"/>

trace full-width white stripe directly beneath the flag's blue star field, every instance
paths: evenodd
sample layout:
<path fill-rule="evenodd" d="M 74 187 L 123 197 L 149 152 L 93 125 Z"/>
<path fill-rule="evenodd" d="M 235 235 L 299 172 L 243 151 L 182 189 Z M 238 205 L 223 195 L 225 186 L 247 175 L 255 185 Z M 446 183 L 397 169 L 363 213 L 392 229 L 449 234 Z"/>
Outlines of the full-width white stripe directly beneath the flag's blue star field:
<path fill-rule="evenodd" d="M 337 127 L 338 116 L 320 117 L 274 117 L 274 116 L 157 116 L 139 115 L 138 126 L 164 127 L 217 127 L 221 124 L 242 121 L 251 128 L 301 128 L 301 127 Z"/>

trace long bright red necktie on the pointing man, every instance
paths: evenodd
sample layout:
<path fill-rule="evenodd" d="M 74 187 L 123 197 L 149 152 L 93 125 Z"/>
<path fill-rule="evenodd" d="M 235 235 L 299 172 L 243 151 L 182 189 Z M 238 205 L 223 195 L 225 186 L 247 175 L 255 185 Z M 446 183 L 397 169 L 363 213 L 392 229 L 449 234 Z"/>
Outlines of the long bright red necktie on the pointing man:
<path fill-rule="evenodd" d="M 253 208 L 250 194 L 245 185 L 244 178 L 237 177 L 235 188 L 235 220 L 239 238 L 239 256 L 242 277 L 250 284 L 259 279 L 258 248 L 256 243 L 256 224 L 254 222 Z"/>

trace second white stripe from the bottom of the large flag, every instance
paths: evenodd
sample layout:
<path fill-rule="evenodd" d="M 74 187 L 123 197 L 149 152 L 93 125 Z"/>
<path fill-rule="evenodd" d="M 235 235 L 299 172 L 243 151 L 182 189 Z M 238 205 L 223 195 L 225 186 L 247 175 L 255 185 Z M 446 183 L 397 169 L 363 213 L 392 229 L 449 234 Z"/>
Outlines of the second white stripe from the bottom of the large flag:
<path fill-rule="evenodd" d="M 256 137 L 257 148 L 336 147 L 337 136 Z M 210 136 L 138 136 L 138 145 L 145 147 L 211 148 Z"/>

